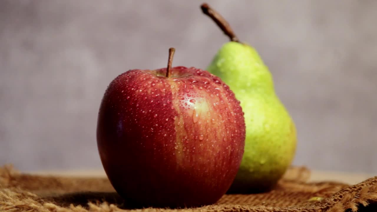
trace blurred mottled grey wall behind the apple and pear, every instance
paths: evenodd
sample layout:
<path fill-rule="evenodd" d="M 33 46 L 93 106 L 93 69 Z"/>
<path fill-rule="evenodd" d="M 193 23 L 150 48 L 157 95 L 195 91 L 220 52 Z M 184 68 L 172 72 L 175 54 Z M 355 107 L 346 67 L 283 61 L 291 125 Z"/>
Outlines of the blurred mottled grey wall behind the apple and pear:
<path fill-rule="evenodd" d="M 377 1 L 207 1 L 274 76 L 295 165 L 377 173 Z M 0 1 L 0 166 L 101 169 L 103 93 L 129 69 L 205 68 L 227 38 L 202 1 Z"/>

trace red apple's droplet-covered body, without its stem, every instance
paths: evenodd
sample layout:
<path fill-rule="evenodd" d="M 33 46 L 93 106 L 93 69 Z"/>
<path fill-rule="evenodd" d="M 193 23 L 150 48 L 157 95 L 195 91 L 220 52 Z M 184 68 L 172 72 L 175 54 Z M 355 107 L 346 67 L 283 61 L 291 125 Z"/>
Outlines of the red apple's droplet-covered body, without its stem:
<path fill-rule="evenodd" d="M 171 71 L 135 69 L 110 83 L 98 114 L 100 158 L 118 194 L 135 204 L 213 204 L 241 163 L 243 112 L 219 77 Z"/>

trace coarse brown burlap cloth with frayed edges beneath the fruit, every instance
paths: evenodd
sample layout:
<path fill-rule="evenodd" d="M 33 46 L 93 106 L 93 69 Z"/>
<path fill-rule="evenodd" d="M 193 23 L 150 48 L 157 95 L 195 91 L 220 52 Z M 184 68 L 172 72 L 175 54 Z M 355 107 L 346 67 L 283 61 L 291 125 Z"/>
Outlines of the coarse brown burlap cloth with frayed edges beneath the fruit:
<path fill-rule="evenodd" d="M 308 169 L 292 167 L 270 192 L 226 194 L 218 203 L 199 208 L 135 208 L 114 192 L 107 178 L 30 175 L 4 166 L 0 167 L 0 211 L 377 211 L 377 177 L 355 185 L 309 183 L 309 177 Z"/>

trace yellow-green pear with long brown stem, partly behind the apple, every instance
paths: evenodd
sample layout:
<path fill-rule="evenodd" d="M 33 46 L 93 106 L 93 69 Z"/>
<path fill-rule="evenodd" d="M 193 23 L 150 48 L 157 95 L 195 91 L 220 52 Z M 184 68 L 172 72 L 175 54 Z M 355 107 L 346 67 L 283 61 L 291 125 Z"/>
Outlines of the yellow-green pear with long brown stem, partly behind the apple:
<path fill-rule="evenodd" d="M 294 121 L 277 97 L 271 72 L 258 52 L 241 43 L 224 18 L 207 4 L 201 8 L 231 40 L 222 45 L 207 71 L 230 87 L 245 113 L 245 151 L 229 192 L 269 190 L 294 158 Z"/>

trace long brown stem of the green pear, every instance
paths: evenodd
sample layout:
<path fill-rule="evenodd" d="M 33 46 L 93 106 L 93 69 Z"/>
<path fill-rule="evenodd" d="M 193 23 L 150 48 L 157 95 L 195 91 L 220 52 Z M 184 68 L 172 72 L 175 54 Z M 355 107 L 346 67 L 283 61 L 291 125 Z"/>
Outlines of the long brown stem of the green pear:
<path fill-rule="evenodd" d="M 208 15 L 220 27 L 220 29 L 227 35 L 231 41 L 239 42 L 238 37 L 234 34 L 228 22 L 218 12 L 212 9 L 207 3 L 203 3 L 200 8 L 203 13 Z"/>

